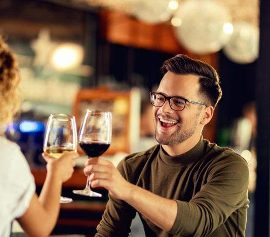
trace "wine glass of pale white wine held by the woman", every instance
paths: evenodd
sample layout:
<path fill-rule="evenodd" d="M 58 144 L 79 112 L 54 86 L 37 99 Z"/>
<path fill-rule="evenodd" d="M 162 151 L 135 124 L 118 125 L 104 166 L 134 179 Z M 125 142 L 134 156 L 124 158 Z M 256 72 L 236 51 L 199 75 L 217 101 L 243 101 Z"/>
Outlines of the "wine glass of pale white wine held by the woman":
<path fill-rule="evenodd" d="M 77 151 L 75 117 L 64 113 L 51 114 L 46 126 L 43 151 L 58 159 L 63 153 Z M 72 199 L 60 197 L 60 203 L 71 203 Z"/>

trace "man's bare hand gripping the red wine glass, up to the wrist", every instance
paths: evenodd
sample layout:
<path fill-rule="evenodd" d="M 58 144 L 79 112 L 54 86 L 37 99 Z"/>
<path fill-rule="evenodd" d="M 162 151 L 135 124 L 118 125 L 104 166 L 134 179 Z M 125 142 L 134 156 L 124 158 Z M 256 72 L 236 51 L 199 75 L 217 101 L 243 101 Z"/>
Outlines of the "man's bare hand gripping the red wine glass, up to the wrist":
<path fill-rule="evenodd" d="M 126 200 L 132 184 L 123 178 L 109 161 L 100 157 L 90 158 L 85 163 L 85 175 L 90 175 L 91 187 L 104 187 L 114 198 Z"/>

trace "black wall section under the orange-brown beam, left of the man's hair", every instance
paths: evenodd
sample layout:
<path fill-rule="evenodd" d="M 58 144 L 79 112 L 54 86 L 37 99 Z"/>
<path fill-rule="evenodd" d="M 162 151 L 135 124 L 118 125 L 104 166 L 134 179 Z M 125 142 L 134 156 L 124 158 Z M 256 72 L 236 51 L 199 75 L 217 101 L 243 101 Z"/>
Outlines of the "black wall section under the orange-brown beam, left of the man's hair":
<path fill-rule="evenodd" d="M 98 39 L 99 40 L 99 39 Z M 172 54 L 111 44 L 99 40 L 96 76 L 98 83 L 109 75 L 111 80 L 125 87 L 144 87 L 149 91 L 158 85 L 163 62 Z"/>

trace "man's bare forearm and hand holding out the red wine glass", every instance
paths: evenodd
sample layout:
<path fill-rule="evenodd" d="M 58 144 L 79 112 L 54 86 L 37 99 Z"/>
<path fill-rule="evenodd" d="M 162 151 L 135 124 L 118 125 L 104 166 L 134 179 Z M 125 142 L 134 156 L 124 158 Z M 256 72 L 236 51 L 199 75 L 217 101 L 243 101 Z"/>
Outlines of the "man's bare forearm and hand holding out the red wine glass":
<path fill-rule="evenodd" d="M 90 175 L 91 187 L 104 187 L 114 198 L 134 207 L 154 224 L 169 231 L 177 214 L 177 203 L 129 183 L 109 161 L 100 157 L 85 163 L 85 175 Z"/>

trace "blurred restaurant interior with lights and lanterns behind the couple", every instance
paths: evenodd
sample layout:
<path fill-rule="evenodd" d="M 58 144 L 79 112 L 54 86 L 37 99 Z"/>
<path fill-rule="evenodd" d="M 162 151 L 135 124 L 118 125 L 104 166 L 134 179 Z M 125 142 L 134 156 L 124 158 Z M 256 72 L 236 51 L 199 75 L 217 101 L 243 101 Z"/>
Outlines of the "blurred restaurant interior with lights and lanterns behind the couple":
<path fill-rule="evenodd" d="M 126 154 L 156 144 L 149 92 L 162 78 L 162 63 L 186 54 L 211 64 L 221 77 L 223 96 L 203 135 L 249 163 L 246 236 L 257 236 L 259 18 L 258 0 L 2 0 L 0 32 L 19 61 L 23 94 L 21 113 L 6 134 L 21 146 L 37 192 L 51 113 L 73 114 L 79 127 L 86 108 L 112 111 L 117 119 L 106 156 L 117 165 Z M 84 162 L 82 154 L 64 186 L 66 196 L 84 186 Z M 107 201 L 101 191 L 102 200 L 72 196 L 75 202 L 62 206 L 54 233 L 92 236 Z M 137 221 L 132 236 L 143 236 Z"/>

